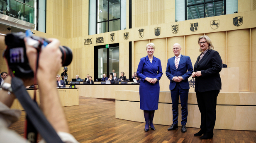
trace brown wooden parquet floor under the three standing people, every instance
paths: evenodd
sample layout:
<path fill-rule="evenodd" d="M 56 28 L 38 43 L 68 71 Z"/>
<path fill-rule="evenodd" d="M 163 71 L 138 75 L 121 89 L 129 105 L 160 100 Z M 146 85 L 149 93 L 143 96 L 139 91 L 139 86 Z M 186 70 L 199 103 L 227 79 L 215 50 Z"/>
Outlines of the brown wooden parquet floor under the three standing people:
<path fill-rule="evenodd" d="M 169 126 L 154 125 L 156 131 L 144 132 L 144 123 L 115 118 L 115 102 L 79 97 L 79 106 L 63 107 L 71 134 L 80 143 L 256 143 L 256 131 L 214 130 L 213 139 L 200 140 L 193 136 L 198 128 L 179 127 L 167 131 Z M 21 136 L 24 133 L 24 115 L 10 126 Z"/>

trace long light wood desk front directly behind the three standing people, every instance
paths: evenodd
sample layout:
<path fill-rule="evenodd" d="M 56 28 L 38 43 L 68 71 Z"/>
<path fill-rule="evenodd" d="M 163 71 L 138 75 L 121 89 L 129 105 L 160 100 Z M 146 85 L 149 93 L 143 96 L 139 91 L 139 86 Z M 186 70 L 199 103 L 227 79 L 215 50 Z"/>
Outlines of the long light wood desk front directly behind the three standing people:
<path fill-rule="evenodd" d="M 180 103 L 180 101 L 179 101 Z M 140 110 L 139 91 L 116 91 L 116 118 L 145 122 Z M 217 98 L 217 118 L 215 129 L 256 131 L 256 93 L 219 93 Z M 199 128 L 201 114 L 195 93 L 188 94 L 187 127 Z M 158 110 L 154 124 L 172 124 L 172 102 L 170 92 L 160 92 Z M 179 104 L 178 126 L 181 126 L 181 106 Z"/>

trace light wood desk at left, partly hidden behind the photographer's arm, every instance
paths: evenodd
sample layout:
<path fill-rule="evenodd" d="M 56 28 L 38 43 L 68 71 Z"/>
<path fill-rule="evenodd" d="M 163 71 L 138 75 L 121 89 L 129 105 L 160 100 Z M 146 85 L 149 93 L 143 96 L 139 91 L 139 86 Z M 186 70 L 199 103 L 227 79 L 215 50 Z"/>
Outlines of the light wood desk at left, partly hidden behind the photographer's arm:
<path fill-rule="evenodd" d="M 29 93 L 31 98 L 34 98 L 34 90 L 36 91 L 36 98 L 37 98 L 37 104 L 40 104 L 40 95 L 39 95 L 39 89 L 37 88 L 27 88 L 27 92 Z M 59 99 L 61 102 L 61 106 L 74 106 L 79 105 L 79 97 L 78 88 L 57 88 L 59 91 Z M 20 102 L 15 99 L 11 109 L 19 109 L 24 110 Z"/>

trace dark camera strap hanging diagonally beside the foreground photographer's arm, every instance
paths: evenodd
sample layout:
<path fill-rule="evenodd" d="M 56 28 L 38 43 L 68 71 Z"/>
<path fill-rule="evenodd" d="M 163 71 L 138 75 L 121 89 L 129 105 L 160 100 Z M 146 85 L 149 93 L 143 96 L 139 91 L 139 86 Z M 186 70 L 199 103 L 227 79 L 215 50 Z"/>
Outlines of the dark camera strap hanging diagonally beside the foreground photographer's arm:
<path fill-rule="evenodd" d="M 12 92 L 20 101 L 20 104 L 27 113 L 27 117 L 47 143 L 63 143 L 54 128 L 48 122 L 37 104 L 30 98 L 23 81 L 12 77 Z"/>

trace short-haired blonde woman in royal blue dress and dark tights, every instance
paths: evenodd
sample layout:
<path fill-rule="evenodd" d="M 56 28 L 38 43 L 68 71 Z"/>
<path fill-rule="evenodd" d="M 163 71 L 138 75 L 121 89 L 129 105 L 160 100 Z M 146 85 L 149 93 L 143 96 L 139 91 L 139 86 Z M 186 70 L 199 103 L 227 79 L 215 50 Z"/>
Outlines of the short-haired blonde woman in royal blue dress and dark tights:
<path fill-rule="evenodd" d="M 146 122 L 144 131 L 149 131 L 149 126 L 150 129 L 156 130 L 153 125 L 153 118 L 155 110 L 158 110 L 159 80 L 163 72 L 161 61 L 153 56 L 155 49 L 154 43 L 146 45 L 148 55 L 141 58 L 137 69 L 137 76 L 141 79 L 139 85 L 140 109 L 144 110 Z"/>

